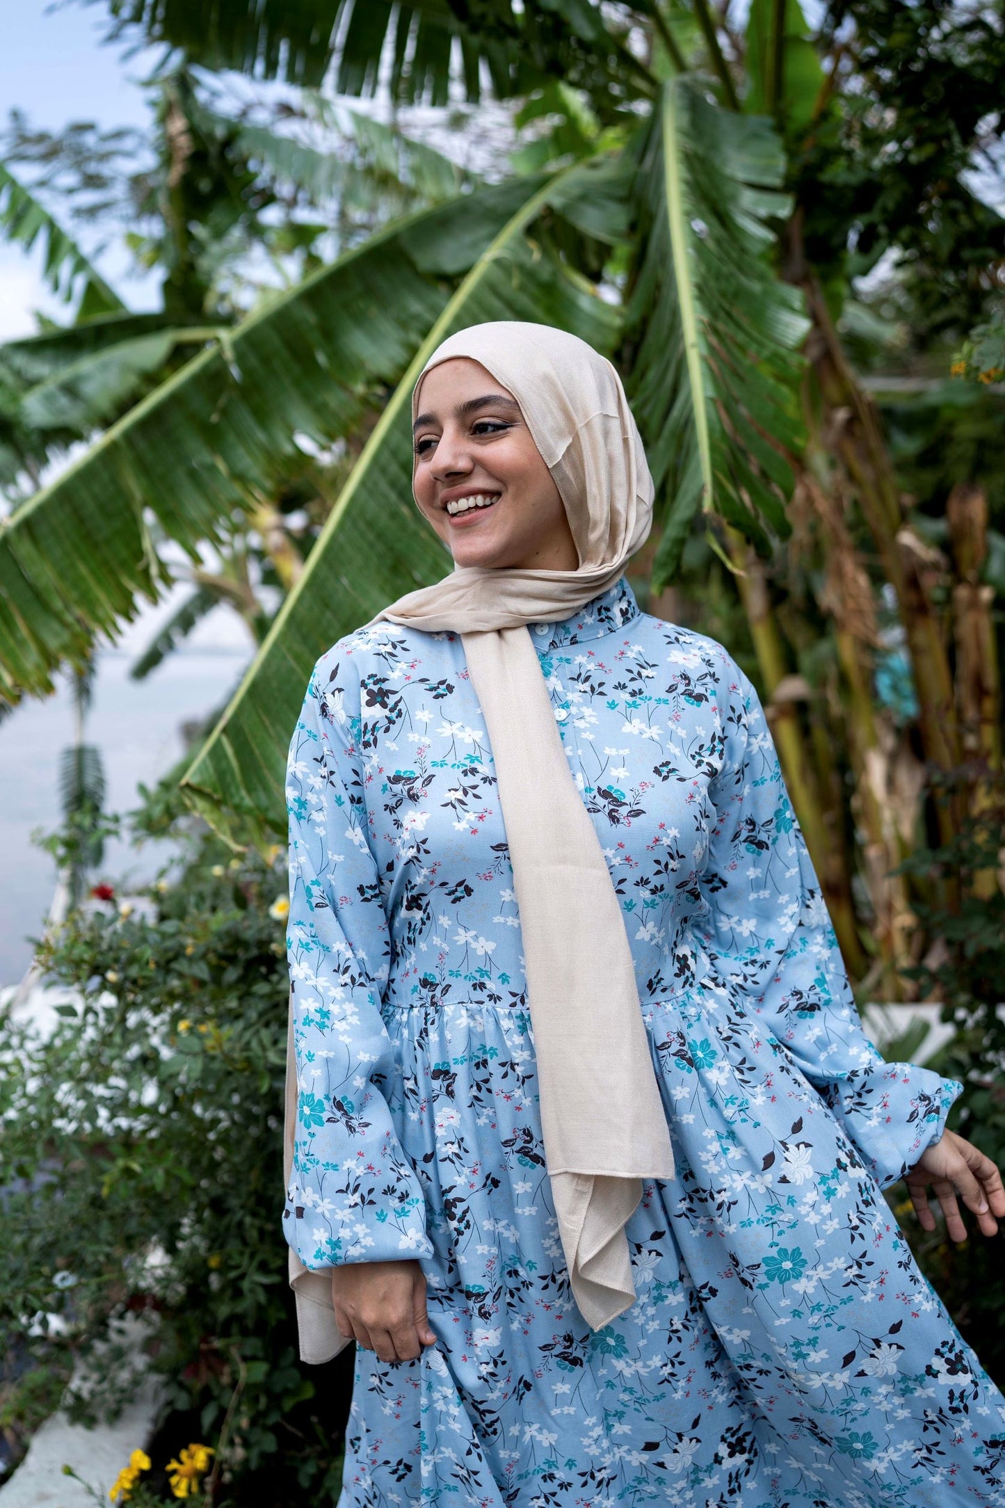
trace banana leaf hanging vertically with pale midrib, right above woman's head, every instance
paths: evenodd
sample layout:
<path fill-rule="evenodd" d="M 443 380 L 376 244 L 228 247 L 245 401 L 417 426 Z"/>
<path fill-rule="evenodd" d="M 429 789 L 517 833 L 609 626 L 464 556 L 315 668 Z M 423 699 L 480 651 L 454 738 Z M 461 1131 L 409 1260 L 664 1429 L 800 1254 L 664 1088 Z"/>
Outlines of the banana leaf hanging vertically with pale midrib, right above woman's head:
<path fill-rule="evenodd" d="M 768 121 L 711 104 L 687 75 L 664 86 L 636 187 L 643 252 L 627 314 L 630 395 L 669 499 L 655 587 L 699 508 L 761 546 L 788 528 L 808 321 L 771 265 L 784 170 Z"/>

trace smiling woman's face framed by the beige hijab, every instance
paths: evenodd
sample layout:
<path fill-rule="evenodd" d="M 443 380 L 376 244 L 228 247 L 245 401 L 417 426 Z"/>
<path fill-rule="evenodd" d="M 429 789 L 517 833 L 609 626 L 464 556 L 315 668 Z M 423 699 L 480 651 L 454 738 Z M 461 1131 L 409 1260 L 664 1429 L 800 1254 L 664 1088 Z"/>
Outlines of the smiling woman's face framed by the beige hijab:
<path fill-rule="evenodd" d="M 576 570 L 565 507 L 520 404 L 478 362 L 422 379 L 414 490 L 457 566 Z"/>

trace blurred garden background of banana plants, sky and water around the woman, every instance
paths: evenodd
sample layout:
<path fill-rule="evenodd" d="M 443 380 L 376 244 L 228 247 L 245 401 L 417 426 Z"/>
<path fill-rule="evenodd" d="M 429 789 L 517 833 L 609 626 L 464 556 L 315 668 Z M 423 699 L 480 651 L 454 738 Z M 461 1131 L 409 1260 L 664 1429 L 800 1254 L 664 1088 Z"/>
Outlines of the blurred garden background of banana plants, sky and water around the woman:
<path fill-rule="evenodd" d="M 408 394 L 452 327 L 618 363 L 628 579 L 752 676 L 871 1033 L 1003 1160 L 1002 77 L 951 0 L 5 18 L 0 1467 L 146 1378 L 151 1502 L 193 1442 L 206 1503 L 338 1496 L 276 1231 L 283 759 L 316 656 L 449 569 Z M 1000 1383 L 1000 1246 L 887 1199 Z"/>

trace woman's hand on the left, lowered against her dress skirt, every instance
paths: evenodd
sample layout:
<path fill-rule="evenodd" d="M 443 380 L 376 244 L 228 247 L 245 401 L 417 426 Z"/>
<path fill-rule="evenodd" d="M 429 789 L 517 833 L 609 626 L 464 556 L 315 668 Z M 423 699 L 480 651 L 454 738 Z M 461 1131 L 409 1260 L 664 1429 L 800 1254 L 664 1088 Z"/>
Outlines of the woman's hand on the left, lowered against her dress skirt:
<path fill-rule="evenodd" d="M 331 1270 L 339 1335 L 381 1362 L 414 1362 L 435 1345 L 426 1315 L 426 1280 L 417 1262 L 350 1262 Z"/>

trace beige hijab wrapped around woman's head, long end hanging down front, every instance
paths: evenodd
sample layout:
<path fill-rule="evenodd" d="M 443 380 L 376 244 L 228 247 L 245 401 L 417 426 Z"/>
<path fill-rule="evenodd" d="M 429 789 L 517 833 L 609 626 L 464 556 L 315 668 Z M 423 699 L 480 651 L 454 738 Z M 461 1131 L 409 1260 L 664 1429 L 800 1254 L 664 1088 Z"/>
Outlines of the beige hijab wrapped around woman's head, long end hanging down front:
<path fill-rule="evenodd" d="M 511 321 L 460 330 L 426 362 L 413 419 L 425 372 L 458 356 L 518 401 L 565 504 L 579 567 L 458 567 L 371 621 L 461 635 L 520 911 L 551 1197 L 573 1295 L 598 1330 L 634 1300 L 625 1223 L 643 1178 L 674 1176 L 674 1154 L 621 903 L 526 624 L 567 618 L 619 579 L 649 534 L 652 478 L 621 379 L 585 341 Z M 286 1142 L 289 1163 L 289 1111 Z M 291 1279 L 301 1354 L 324 1360 L 344 1344 L 330 1274 L 307 1273 L 291 1252 Z"/>

